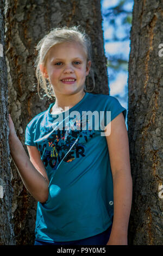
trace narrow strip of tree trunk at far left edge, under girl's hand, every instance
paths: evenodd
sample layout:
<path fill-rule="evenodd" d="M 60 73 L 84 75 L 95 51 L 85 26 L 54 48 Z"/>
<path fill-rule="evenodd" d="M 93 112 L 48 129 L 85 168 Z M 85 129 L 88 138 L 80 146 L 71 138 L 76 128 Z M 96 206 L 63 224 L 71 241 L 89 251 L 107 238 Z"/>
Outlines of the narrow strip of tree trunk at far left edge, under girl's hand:
<path fill-rule="evenodd" d="M 0 0 L 0 245 L 14 245 L 11 172 L 8 144 L 7 66 L 4 50 L 4 1 Z"/>

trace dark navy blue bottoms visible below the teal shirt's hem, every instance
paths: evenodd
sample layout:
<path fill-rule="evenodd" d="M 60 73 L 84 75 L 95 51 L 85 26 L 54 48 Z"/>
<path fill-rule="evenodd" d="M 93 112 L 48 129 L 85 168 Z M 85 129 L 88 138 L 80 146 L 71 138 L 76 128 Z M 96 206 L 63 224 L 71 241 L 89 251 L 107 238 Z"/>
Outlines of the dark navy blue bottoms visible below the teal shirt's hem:
<path fill-rule="evenodd" d="M 70 242 L 52 242 L 35 239 L 34 245 L 106 245 L 110 237 L 111 228 L 112 224 L 108 229 L 100 234 Z"/>

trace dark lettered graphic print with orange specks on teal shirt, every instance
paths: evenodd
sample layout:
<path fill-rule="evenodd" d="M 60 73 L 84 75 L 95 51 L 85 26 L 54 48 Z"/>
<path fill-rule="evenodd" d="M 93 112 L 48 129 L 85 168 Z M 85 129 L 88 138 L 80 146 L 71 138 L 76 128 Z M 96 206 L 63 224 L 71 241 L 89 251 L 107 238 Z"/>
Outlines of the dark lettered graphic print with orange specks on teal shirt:
<path fill-rule="evenodd" d="M 41 129 L 46 134 L 51 133 L 51 130 L 52 127 Z M 62 160 L 72 162 L 76 158 L 85 157 L 85 143 L 80 142 L 80 138 L 84 138 L 87 142 L 93 135 L 95 135 L 95 130 L 55 130 L 45 139 L 45 143 L 36 143 L 36 146 L 45 167 L 49 164 L 52 169 L 57 169 Z"/>

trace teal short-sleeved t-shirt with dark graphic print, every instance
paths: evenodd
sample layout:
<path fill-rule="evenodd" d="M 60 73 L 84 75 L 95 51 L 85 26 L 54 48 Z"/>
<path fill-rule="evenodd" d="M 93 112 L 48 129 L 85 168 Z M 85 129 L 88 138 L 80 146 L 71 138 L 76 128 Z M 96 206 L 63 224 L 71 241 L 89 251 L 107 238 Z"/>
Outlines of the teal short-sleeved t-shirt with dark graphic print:
<path fill-rule="evenodd" d="M 25 144 L 40 151 L 50 181 L 48 200 L 37 203 L 35 236 L 56 242 L 85 239 L 112 223 L 113 182 L 104 126 L 121 112 L 126 120 L 127 111 L 114 96 L 103 94 L 85 93 L 58 115 L 50 113 L 54 103 L 26 127 Z"/>

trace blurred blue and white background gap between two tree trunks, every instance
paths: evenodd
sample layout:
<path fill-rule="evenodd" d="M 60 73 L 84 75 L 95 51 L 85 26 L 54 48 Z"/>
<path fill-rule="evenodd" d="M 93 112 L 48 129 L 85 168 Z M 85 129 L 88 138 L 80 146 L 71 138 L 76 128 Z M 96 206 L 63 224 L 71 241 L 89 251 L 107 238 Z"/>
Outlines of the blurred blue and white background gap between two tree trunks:
<path fill-rule="evenodd" d="M 101 5 L 110 95 L 128 108 L 128 61 L 134 0 L 102 0 Z"/>

